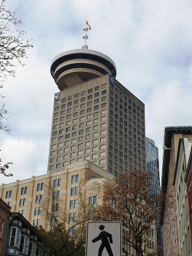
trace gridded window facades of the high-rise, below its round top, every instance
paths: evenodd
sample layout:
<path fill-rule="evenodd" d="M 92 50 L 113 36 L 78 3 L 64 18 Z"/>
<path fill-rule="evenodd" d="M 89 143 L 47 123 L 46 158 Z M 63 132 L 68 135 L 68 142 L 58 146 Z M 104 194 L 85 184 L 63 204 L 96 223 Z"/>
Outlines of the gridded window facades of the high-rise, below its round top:
<path fill-rule="evenodd" d="M 57 134 L 52 134 L 51 138 L 49 170 L 61 170 L 84 160 L 115 176 L 128 169 L 145 170 L 142 102 L 116 80 L 113 85 L 95 84 L 76 94 L 72 95 L 72 90 L 67 89 L 66 96 L 62 99 L 61 92 L 61 99 L 55 102 L 53 132 Z M 58 107 L 66 111 L 64 115 L 61 116 Z M 59 131 L 64 135 L 59 136 Z M 61 149 L 56 150 L 58 147 Z"/>

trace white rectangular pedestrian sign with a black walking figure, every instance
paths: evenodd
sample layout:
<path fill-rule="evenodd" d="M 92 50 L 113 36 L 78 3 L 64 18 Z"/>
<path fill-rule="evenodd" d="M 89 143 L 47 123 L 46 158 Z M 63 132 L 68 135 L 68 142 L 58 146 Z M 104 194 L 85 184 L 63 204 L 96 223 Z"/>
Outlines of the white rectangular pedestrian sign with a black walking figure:
<path fill-rule="evenodd" d="M 85 256 L 122 256 L 121 222 L 88 222 Z"/>

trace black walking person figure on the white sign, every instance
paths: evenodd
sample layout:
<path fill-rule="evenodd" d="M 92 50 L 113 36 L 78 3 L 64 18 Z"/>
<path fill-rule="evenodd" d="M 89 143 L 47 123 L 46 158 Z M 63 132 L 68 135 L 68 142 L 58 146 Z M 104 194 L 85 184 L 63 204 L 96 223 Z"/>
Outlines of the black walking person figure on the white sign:
<path fill-rule="evenodd" d="M 104 225 L 100 225 L 99 230 L 104 230 Z M 98 256 L 102 255 L 104 247 L 107 249 L 108 255 L 113 256 L 112 249 L 111 249 L 111 246 L 110 246 L 110 244 L 112 244 L 112 235 L 110 233 L 107 233 L 106 231 L 101 231 L 99 236 L 94 238 L 92 240 L 92 242 L 95 243 L 96 241 L 99 241 L 99 240 L 101 240 L 102 243 L 101 243 L 101 246 L 99 247 Z M 110 240 L 110 242 L 109 242 L 109 240 Z"/>

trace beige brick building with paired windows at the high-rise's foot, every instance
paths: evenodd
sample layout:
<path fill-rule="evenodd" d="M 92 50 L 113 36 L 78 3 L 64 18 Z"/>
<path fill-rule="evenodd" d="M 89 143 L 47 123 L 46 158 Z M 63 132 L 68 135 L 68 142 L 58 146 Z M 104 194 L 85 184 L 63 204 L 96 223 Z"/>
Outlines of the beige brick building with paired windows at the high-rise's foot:
<path fill-rule="evenodd" d="M 89 200 L 101 200 L 96 184 L 104 184 L 106 179 L 112 178 L 111 173 L 89 161 L 74 162 L 63 171 L 1 184 L 0 197 L 11 206 L 11 211 L 23 214 L 31 225 L 42 225 L 48 230 L 51 213 L 62 218 L 77 213 L 80 188 L 85 204 Z"/>

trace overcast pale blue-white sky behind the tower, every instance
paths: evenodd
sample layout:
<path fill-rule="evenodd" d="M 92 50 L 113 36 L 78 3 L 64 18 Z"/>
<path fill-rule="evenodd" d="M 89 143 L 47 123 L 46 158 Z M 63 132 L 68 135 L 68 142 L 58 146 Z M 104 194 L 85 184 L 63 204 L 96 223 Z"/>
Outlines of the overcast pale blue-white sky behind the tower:
<path fill-rule="evenodd" d="M 21 7 L 20 7 L 21 4 Z M 191 0 L 7 0 L 18 9 L 21 30 L 34 48 L 26 67 L 1 89 L 12 132 L 0 132 L 0 157 L 13 162 L 13 177 L 47 172 L 53 97 L 58 92 L 50 63 L 61 52 L 80 49 L 87 18 L 88 46 L 116 64 L 116 79 L 145 103 L 146 136 L 159 148 L 164 127 L 191 125 Z M 15 28 L 16 29 L 16 28 Z"/>

